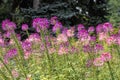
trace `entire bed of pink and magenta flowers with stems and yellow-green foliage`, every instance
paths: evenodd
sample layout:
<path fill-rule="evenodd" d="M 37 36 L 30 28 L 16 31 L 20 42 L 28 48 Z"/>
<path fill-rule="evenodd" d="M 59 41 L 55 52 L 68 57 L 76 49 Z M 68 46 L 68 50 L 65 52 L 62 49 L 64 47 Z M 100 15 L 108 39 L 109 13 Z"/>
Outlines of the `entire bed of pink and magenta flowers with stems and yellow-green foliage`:
<path fill-rule="evenodd" d="M 22 40 L 17 24 L 1 23 L 0 80 L 120 80 L 120 28 L 110 22 L 65 27 L 56 16 L 34 18 Z"/>

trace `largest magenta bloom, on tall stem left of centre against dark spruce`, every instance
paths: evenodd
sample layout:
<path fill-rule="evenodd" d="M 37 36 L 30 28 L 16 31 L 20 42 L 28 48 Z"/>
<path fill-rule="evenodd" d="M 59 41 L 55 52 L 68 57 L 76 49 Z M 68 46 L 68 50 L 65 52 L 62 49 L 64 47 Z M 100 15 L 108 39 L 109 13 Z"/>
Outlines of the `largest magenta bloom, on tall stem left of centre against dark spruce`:
<path fill-rule="evenodd" d="M 33 19 L 32 25 L 37 32 L 40 32 L 40 30 L 45 30 L 49 28 L 49 21 L 47 18 L 35 18 Z"/>

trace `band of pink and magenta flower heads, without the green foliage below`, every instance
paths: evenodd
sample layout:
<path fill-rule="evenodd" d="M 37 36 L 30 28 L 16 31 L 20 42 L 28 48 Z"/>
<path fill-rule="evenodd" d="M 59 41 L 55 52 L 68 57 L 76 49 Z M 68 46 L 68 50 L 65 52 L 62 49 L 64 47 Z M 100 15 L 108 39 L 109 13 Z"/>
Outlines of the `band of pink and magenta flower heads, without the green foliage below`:
<path fill-rule="evenodd" d="M 8 19 L 2 21 L 4 33 L 0 34 L 0 47 L 4 52 L 2 58 L 6 65 L 12 59 L 19 58 L 20 53 L 26 61 L 33 55 L 44 56 L 46 53 L 48 59 L 53 54 L 68 56 L 84 53 L 87 56 L 87 68 L 100 67 L 114 58 L 113 46 L 120 46 L 120 29 L 116 31 L 110 22 L 90 26 L 88 29 L 83 24 L 68 28 L 54 16 L 50 20 L 35 18 L 32 27 L 35 33 L 28 34 L 29 26 L 21 25 L 21 29 L 28 34 L 27 39 L 21 40 L 22 35 L 15 33 L 16 24 Z M 15 69 L 12 74 L 19 76 Z"/>

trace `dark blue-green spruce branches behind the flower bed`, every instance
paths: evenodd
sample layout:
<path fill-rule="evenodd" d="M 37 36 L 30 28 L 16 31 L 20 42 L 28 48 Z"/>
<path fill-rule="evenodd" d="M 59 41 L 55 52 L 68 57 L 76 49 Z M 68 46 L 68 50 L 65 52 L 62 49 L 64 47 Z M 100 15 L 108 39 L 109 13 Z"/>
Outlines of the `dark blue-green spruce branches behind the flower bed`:
<path fill-rule="evenodd" d="M 37 11 L 33 8 L 21 8 L 20 13 L 15 15 L 22 16 L 26 22 L 35 17 L 58 16 L 64 25 L 83 23 L 88 27 L 107 21 L 106 6 L 107 0 L 44 0 Z"/>

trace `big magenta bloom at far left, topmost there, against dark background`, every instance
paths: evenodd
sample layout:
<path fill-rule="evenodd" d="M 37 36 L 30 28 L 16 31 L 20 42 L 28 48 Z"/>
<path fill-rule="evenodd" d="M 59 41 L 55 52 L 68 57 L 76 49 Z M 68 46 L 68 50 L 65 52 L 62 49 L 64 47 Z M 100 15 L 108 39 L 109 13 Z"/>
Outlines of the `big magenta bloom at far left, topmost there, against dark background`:
<path fill-rule="evenodd" d="M 14 31 L 14 29 L 16 29 L 16 24 L 6 19 L 2 22 L 2 29 L 5 31 L 12 32 Z"/>

